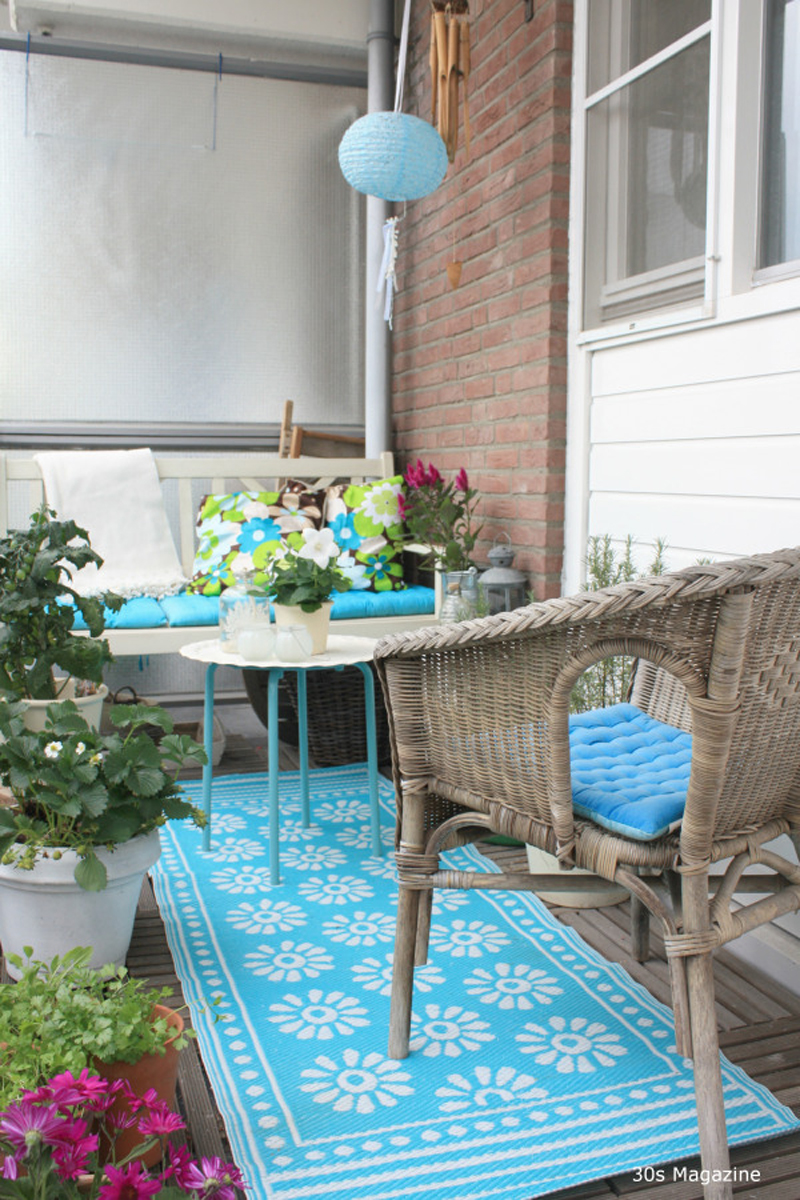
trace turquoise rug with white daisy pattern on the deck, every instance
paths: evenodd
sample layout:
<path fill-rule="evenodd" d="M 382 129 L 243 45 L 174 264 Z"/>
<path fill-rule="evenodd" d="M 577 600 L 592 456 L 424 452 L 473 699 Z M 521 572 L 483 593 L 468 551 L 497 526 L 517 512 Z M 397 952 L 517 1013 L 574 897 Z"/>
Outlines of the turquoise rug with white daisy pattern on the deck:
<path fill-rule="evenodd" d="M 188 785 L 199 796 L 199 784 Z M 435 893 L 411 1054 L 386 1057 L 396 884 L 369 853 L 366 768 L 281 776 L 281 870 L 266 776 L 213 784 L 212 848 L 173 822 L 154 871 L 235 1160 L 253 1200 L 531 1200 L 698 1152 L 691 1066 L 669 1013 L 533 896 Z M 491 870 L 471 848 L 453 865 Z M 796 1128 L 723 1061 L 732 1142 Z"/>

